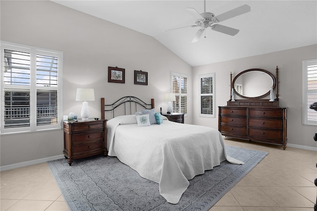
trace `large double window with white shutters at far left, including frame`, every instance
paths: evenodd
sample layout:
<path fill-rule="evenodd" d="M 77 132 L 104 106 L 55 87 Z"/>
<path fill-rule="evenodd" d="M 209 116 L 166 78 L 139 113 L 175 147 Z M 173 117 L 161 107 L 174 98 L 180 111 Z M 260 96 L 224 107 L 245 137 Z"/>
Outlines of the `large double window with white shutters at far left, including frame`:
<path fill-rule="evenodd" d="M 1 133 L 60 128 L 61 73 L 61 52 L 1 42 Z"/>

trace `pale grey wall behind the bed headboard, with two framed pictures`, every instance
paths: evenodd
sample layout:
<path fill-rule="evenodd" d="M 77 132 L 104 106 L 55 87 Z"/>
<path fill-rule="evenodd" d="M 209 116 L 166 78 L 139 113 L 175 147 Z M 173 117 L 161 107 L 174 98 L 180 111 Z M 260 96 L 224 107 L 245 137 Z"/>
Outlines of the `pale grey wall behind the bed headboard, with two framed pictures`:
<path fill-rule="evenodd" d="M 52 1 L 1 0 L 0 7 L 2 41 L 63 52 L 63 114 L 80 113 L 77 88 L 95 89 L 91 117 L 101 116 L 100 98 L 110 104 L 128 95 L 147 103 L 154 98 L 156 111 L 166 112 L 170 72 L 191 77 L 192 67 L 153 37 Z M 125 84 L 107 82 L 108 66 L 125 68 Z M 148 86 L 134 84 L 134 70 L 148 72 Z M 186 123 L 192 122 L 191 95 Z M 63 131 L 1 135 L 0 142 L 0 165 L 9 165 L 61 155 Z"/>

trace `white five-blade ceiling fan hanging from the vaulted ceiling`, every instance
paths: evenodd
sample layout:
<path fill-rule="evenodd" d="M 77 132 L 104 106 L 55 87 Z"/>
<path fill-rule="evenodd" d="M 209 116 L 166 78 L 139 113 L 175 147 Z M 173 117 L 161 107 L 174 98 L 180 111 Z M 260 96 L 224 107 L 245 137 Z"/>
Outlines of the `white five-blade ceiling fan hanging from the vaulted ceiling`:
<path fill-rule="evenodd" d="M 228 26 L 223 26 L 223 25 L 215 24 L 215 23 L 219 23 L 219 22 L 227 20 L 229 18 L 233 18 L 235 16 L 250 12 L 251 7 L 247 4 L 244 4 L 242 6 L 235 8 L 235 9 L 229 10 L 227 12 L 224 12 L 220 15 L 215 16 L 211 12 L 206 12 L 206 0 L 205 0 L 205 8 L 204 8 L 205 12 L 204 13 L 199 13 L 194 8 L 186 8 L 186 10 L 197 19 L 195 22 L 195 25 L 184 26 L 184 27 L 180 27 L 180 28 L 176 28 L 176 29 L 181 29 L 181 28 L 185 28 L 185 27 L 200 27 L 200 29 L 198 30 L 198 32 L 196 33 L 196 35 L 194 36 L 194 38 L 192 40 L 192 43 L 195 43 L 200 39 L 200 37 L 202 36 L 202 34 L 204 32 L 205 32 L 205 38 L 206 38 L 206 29 L 208 27 L 211 27 L 211 30 L 213 30 L 213 31 L 221 32 L 221 33 L 231 35 L 231 36 L 236 35 L 239 32 L 238 29 L 234 29 L 234 28 L 231 28 Z M 170 30 L 175 30 L 175 29 L 170 29 Z M 170 31 L 170 30 L 166 30 L 166 31 Z"/>

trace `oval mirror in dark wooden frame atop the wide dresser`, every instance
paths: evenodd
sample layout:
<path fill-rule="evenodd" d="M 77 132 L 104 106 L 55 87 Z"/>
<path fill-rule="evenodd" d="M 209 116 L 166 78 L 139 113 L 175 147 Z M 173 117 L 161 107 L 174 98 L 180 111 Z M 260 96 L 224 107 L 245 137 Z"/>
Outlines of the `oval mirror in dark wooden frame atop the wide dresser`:
<path fill-rule="evenodd" d="M 275 76 L 264 69 L 244 70 L 236 75 L 231 83 L 231 89 L 234 90 L 234 93 L 248 100 L 261 99 L 268 96 L 271 87 L 274 90 L 275 86 Z"/>

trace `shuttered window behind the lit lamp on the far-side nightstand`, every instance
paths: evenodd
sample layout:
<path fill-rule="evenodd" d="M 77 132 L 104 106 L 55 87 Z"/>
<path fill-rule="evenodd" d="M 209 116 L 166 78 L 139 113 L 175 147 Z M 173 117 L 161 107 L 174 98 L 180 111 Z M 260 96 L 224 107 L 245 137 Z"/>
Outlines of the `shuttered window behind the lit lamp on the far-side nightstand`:
<path fill-rule="evenodd" d="M 171 79 L 172 91 L 175 93 L 176 99 L 176 101 L 173 102 L 173 112 L 187 114 L 188 76 L 179 73 L 171 73 Z"/>

